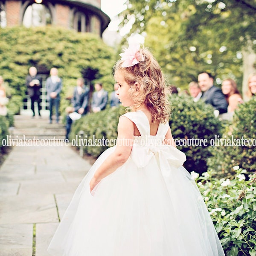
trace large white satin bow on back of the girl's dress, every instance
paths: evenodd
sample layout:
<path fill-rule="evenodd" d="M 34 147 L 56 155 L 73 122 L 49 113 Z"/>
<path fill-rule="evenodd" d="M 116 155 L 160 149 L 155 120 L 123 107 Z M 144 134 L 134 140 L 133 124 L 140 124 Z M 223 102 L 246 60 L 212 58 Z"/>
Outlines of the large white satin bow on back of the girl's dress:
<path fill-rule="evenodd" d="M 156 158 L 157 165 L 165 177 L 170 175 L 172 167 L 178 168 L 186 161 L 186 155 L 171 145 L 133 144 L 131 159 L 138 168 L 146 166 L 152 157 Z"/>

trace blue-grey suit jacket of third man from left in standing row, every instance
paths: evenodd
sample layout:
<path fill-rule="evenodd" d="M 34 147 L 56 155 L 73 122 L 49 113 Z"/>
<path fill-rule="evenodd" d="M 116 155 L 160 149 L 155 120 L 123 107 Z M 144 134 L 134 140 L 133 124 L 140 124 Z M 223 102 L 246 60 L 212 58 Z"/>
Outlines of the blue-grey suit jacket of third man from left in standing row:
<path fill-rule="evenodd" d="M 76 86 L 74 89 L 73 98 L 71 99 L 71 102 L 76 112 L 79 110 L 79 108 L 84 108 L 83 115 L 86 114 L 89 102 L 89 88 L 85 86 L 82 87 L 82 93 L 79 94 Z"/>

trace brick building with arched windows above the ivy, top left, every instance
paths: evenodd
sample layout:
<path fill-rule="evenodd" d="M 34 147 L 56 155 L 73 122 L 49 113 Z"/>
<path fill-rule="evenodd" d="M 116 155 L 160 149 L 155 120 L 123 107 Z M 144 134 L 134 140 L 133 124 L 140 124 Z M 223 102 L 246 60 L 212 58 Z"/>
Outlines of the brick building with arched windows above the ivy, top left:
<path fill-rule="evenodd" d="M 61 26 L 102 37 L 110 18 L 101 0 L 0 0 L 0 26 Z"/>

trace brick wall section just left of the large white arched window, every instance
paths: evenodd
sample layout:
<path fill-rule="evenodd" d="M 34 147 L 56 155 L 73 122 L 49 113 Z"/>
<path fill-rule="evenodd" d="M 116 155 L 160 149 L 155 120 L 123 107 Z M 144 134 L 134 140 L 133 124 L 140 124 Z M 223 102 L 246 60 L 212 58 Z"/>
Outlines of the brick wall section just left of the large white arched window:
<path fill-rule="evenodd" d="M 6 2 L 6 21 L 7 26 L 20 25 L 20 9 L 21 1 L 7 1 Z"/>

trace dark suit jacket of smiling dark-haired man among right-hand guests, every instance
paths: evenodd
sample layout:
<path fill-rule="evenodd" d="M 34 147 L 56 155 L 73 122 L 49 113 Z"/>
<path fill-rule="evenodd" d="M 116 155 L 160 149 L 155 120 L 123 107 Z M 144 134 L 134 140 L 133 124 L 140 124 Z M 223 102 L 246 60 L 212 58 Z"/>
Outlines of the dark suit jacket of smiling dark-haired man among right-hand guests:
<path fill-rule="evenodd" d="M 204 100 L 205 103 L 211 104 L 220 114 L 227 112 L 228 103 L 220 88 L 213 85 L 203 93 L 201 99 Z"/>

